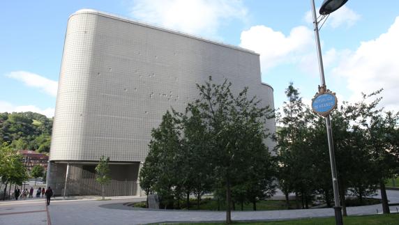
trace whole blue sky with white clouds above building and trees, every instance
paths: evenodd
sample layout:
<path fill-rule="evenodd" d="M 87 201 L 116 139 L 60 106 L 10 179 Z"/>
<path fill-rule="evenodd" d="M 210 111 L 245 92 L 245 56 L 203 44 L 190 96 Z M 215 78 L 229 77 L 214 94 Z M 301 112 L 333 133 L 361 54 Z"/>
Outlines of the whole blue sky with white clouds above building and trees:
<path fill-rule="evenodd" d="M 321 0 L 315 0 L 319 8 Z M 68 16 L 93 8 L 258 52 L 276 107 L 289 82 L 309 103 L 319 72 L 310 0 L 2 1 L 0 111 L 54 116 Z M 356 1 L 320 31 L 326 84 L 339 100 L 384 88 L 381 106 L 399 110 L 399 1 Z M 262 96 L 259 96 L 262 98 Z"/>

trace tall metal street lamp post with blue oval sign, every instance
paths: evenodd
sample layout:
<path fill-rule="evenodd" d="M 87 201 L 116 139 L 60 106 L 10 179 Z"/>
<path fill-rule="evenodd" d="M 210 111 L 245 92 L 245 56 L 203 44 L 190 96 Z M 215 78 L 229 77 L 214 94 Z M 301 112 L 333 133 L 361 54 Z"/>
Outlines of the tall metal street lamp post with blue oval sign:
<path fill-rule="evenodd" d="M 322 15 L 322 18 L 319 22 L 321 22 L 326 15 L 329 15 L 330 13 L 333 13 L 335 10 L 338 10 L 338 8 L 343 6 L 346 2 L 347 0 L 324 0 L 322 3 L 322 7 L 320 7 L 319 10 L 319 14 Z M 336 108 L 337 99 L 335 93 L 332 93 L 326 88 L 326 81 L 324 79 L 322 49 L 320 47 L 320 40 L 319 40 L 319 27 L 318 27 L 319 22 L 317 22 L 318 18 L 316 17 L 315 0 L 311 0 L 311 3 L 313 11 L 313 25 L 315 26 L 315 39 L 316 39 L 317 56 L 318 56 L 317 59 L 319 60 L 320 80 L 322 83 L 322 85 L 319 86 L 319 93 L 317 93 L 317 95 L 313 99 L 312 108 L 313 111 L 315 111 L 315 113 L 324 116 L 326 120 L 327 139 L 329 141 L 331 176 L 333 178 L 334 212 L 336 216 L 336 224 L 342 225 L 343 224 L 342 208 L 340 207 L 336 159 L 334 155 L 334 145 L 333 145 L 333 132 L 331 130 L 331 118 L 330 118 L 330 111 Z"/>

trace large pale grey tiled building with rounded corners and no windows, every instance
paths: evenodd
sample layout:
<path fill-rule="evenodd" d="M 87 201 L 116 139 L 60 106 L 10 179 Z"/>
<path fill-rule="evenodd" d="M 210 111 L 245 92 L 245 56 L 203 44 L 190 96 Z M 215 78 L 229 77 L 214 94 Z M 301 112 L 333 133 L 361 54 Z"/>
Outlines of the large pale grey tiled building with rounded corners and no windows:
<path fill-rule="evenodd" d="M 167 109 L 183 111 L 195 84 L 227 78 L 273 107 L 259 54 L 96 10 L 70 15 L 52 133 L 48 185 L 56 194 L 100 194 L 94 168 L 109 156 L 107 195 L 137 195 L 137 175 Z M 266 126 L 274 132 L 275 121 Z M 270 147 L 273 141 L 266 140 Z"/>

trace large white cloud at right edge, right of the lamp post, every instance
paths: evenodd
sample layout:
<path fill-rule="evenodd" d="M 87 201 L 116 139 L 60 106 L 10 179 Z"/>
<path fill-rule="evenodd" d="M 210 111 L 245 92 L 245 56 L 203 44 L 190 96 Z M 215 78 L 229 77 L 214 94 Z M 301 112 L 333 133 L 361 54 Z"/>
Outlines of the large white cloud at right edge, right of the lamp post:
<path fill-rule="evenodd" d="M 361 42 L 355 52 L 342 59 L 333 75 L 345 77 L 351 90 L 351 100 L 359 100 L 359 93 L 371 93 L 384 88 L 382 106 L 399 110 L 399 17 L 386 33 L 375 40 Z"/>

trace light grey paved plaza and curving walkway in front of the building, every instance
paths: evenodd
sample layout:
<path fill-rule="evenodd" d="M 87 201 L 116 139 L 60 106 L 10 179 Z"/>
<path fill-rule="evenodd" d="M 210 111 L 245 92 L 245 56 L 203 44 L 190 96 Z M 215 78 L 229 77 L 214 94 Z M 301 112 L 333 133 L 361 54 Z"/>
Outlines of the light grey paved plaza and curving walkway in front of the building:
<path fill-rule="evenodd" d="M 399 203 L 399 191 L 387 191 L 391 203 Z M 375 196 L 379 197 L 379 196 Z M 46 208 L 45 199 L 0 202 L 0 224 L 150 224 L 162 222 L 224 221 L 225 212 L 195 210 L 146 210 L 132 208 L 123 203 L 145 201 L 143 197 L 114 197 L 98 201 L 93 197 L 57 197 Z M 391 206 L 396 212 L 399 206 Z M 381 204 L 347 208 L 348 215 L 373 215 L 382 211 Z M 308 217 L 332 217 L 332 208 L 309 210 L 234 211 L 232 219 L 278 220 Z"/>

